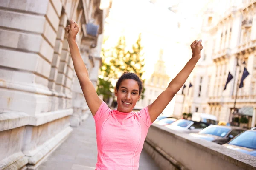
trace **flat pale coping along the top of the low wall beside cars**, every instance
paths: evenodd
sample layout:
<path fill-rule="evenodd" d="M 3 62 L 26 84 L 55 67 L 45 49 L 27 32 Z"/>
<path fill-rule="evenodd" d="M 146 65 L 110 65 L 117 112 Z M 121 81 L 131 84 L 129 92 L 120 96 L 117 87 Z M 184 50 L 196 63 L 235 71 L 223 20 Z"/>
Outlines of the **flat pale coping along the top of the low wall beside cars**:
<path fill-rule="evenodd" d="M 191 144 L 194 147 L 197 147 L 200 150 L 204 150 L 205 152 L 217 156 L 220 159 L 223 159 L 231 164 L 235 164 L 237 167 L 247 170 L 256 170 L 256 159 L 254 156 L 250 156 L 245 153 L 239 153 L 236 150 L 227 149 L 224 146 L 206 141 L 204 139 L 196 139 L 193 136 L 184 133 L 181 134 L 178 131 L 171 130 L 161 125 L 153 123 L 151 126 L 153 128 L 157 128 L 158 130 L 161 130 L 168 136 L 173 136 L 178 140 Z"/>

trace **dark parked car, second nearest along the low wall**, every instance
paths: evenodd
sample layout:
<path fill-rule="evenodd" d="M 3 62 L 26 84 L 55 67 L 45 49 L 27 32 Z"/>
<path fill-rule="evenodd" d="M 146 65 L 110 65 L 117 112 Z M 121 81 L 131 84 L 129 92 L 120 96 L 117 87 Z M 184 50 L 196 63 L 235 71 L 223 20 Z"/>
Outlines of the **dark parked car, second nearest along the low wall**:
<path fill-rule="evenodd" d="M 201 130 L 199 133 L 191 133 L 190 135 L 217 144 L 225 144 L 245 130 L 246 129 L 241 127 L 211 125 Z"/>

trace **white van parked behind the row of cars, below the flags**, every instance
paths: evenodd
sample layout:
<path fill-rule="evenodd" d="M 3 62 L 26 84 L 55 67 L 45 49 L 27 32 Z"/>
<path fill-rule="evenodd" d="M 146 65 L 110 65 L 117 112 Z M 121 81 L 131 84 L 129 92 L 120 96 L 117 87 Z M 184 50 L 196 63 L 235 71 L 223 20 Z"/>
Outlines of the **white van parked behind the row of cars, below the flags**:
<path fill-rule="evenodd" d="M 195 112 L 192 114 L 191 120 L 197 121 L 197 122 L 209 123 L 212 125 L 218 124 L 218 119 L 216 116 L 211 114 L 206 114 L 206 113 Z"/>

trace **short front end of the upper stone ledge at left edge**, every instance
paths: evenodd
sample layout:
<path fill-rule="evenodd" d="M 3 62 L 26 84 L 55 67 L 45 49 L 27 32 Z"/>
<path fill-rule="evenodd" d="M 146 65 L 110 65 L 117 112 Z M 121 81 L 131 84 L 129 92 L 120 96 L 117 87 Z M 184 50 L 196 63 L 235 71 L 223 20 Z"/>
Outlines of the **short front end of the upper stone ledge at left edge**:
<path fill-rule="evenodd" d="M 0 132 L 26 126 L 29 119 L 29 115 L 23 112 L 0 113 Z"/>

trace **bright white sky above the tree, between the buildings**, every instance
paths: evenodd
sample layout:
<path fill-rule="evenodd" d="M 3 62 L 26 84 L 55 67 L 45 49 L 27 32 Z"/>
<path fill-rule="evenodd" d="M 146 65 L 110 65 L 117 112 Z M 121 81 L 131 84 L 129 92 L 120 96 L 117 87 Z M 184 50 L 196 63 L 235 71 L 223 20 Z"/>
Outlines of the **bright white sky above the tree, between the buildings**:
<path fill-rule="evenodd" d="M 193 35 L 187 30 L 195 27 L 195 20 L 191 17 L 197 13 L 197 6 L 204 5 L 198 4 L 203 0 L 157 0 L 155 4 L 149 1 L 113 0 L 104 28 L 104 36 L 109 38 L 103 46 L 115 46 L 122 35 L 125 36 L 127 45 L 131 46 L 141 33 L 145 53 L 143 78 L 148 79 L 153 73 L 154 63 L 159 59 L 159 52 L 163 49 L 166 72 L 172 79 L 192 55 L 189 45 L 192 43 Z M 175 14 L 168 7 L 177 3 L 182 9 Z M 184 24 L 182 28 L 178 28 L 178 22 Z"/>

